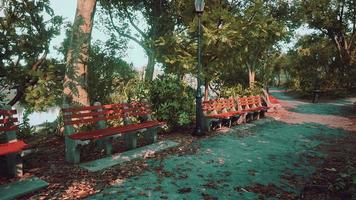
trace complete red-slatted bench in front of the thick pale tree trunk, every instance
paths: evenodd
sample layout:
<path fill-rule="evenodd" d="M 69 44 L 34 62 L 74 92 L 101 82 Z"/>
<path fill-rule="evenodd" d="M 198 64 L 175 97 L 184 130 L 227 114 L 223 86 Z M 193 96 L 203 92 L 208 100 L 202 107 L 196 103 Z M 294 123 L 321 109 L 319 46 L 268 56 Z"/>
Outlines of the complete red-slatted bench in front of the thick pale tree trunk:
<path fill-rule="evenodd" d="M 80 162 L 80 145 L 94 140 L 102 143 L 106 153 L 111 154 L 112 140 L 123 135 L 128 148 L 136 148 L 137 133 L 143 132 L 145 139 L 153 143 L 157 139 L 157 128 L 164 122 L 152 120 L 147 103 L 132 102 L 111 105 L 63 108 L 66 135 L 66 160 Z M 94 129 L 84 129 L 85 125 L 95 125 Z M 84 141 L 84 142 L 83 142 Z"/>

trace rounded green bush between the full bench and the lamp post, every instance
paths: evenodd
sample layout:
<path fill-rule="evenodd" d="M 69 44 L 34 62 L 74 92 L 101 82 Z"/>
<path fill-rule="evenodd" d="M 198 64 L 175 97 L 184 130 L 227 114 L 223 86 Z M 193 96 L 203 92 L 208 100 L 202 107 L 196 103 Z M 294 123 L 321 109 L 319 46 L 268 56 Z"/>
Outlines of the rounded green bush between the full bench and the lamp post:
<path fill-rule="evenodd" d="M 166 74 L 153 80 L 149 100 L 155 116 L 167 121 L 171 128 L 192 123 L 194 90 L 177 76 Z"/>

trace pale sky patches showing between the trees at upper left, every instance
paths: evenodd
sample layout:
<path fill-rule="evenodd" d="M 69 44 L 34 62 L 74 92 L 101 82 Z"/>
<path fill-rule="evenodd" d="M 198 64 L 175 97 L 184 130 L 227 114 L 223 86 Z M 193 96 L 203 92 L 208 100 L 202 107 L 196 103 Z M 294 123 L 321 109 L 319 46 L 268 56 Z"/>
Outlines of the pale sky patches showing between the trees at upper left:
<path fill-rule="evenodd" d="M 50 2 L 51 2 L 51 7 L 56 15 L 63 16 L 65 18 L 65 21 L 73 23 L 75 11 L 77 8 L 77 4 L 76 4 L 77 0 L 51 0 Z M 94 24 L 95 23 L 96 21 L 94 16 Z M 53 47 L 59 46 L 61 42 L 64 40 L 64 37 L 65 37 L 65 31 L 64 29 L 62 29 L 61 35 L 57 36 L 51 41 L 51 53 L 49 56 L 55 58 L 60 57 L 60 55 L 58 55 L 58 52 L 56 52 L 56 50 L 54 50 Z M 92 32 L 92 42 L 96 40 L 105 41 L 107 38 L 108 36 L 105 35 L 104 32 L 95 29 L 94 26 Z M 123 59 L 128 63 L 132 63 L 136 69 L 141 69 L 143 66 L 146 66 L 147 57 L 143 49 L 139 45 L 131 41 L 129 42 L 128 46 L 129 48 L 127 49 L 126 55 Z"/>

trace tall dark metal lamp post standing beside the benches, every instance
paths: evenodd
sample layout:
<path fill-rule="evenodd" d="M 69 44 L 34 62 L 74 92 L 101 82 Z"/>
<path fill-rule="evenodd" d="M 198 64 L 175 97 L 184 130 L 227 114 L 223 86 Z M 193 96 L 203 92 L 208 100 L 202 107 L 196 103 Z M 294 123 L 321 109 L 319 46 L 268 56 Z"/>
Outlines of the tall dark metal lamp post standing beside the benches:
<path fill-rule="evenodd" d="M 204 0 L 195 0 L 195 11 L 198 14 L 198 65 L 197 65 L 197 93 L 195 96 L 196 104 L 196 129 L 195 135 L 202 136 L 203 117 L 202 117 L 202 94 L 201 94 L 201 16 L 203 15 L 205 2 Z"/>

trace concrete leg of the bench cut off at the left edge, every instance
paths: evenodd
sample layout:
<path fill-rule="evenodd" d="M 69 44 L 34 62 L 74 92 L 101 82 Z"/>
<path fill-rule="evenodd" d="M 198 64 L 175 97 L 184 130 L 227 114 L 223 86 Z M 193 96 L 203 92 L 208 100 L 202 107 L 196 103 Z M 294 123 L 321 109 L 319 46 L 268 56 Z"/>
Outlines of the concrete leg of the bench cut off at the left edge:
<path fill-rule="evenodd" d="M 10 177 L 21 177 L 23 175 L 23 165 L 21 156 L 18 153 L 6 155 L 7 174 Z"/>

